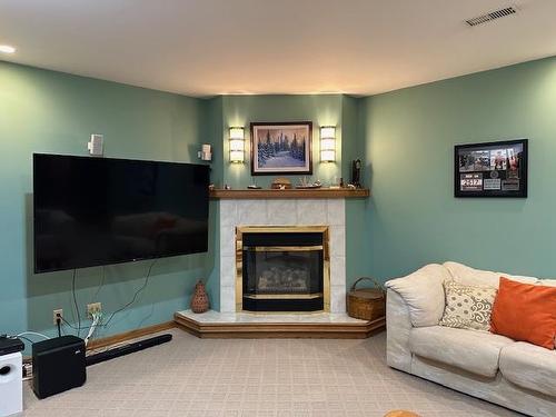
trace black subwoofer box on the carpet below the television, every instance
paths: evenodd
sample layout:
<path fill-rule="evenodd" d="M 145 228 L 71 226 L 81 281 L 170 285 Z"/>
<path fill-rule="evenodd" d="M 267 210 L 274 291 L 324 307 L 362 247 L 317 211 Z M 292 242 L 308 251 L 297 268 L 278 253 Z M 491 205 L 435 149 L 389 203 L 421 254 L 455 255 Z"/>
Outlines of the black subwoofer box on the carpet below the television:
<path fill-rule="evenodd" d="M 62 336 L 33 344 L 33 391 L 39 398 L 80 387 L 87 379 L 85 341 Z"/>

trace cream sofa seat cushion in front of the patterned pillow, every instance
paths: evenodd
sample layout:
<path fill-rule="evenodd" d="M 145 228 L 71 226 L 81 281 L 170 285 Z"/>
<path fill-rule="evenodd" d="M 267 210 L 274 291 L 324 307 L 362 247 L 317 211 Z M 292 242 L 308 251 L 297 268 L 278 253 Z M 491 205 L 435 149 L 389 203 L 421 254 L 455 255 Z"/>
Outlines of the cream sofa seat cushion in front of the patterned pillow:
<path fill-rule="evenodd" d="M 500 349 L 510 344 L 514 340 L 487 331 L 443 326 L 413 328 L 409 332 L 413 354 L 485 377 L 496 376 Z"/>

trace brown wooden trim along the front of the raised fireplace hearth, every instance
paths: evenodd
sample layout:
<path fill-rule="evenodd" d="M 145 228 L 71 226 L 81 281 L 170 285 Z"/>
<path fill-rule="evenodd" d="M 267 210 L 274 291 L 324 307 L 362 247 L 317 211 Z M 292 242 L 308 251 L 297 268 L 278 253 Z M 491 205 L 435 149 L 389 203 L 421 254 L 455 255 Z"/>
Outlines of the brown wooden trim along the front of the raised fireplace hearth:
<path fill-rule="evenodd" d="M 363 324 L 331 322 L 222 322 L 206 324 L 173 316 L 177 326 L 199 338 L 256 339 L 256 338 L 314 338 L 314 339 L 365 339 L 386 327 L 386 318 Z"/>

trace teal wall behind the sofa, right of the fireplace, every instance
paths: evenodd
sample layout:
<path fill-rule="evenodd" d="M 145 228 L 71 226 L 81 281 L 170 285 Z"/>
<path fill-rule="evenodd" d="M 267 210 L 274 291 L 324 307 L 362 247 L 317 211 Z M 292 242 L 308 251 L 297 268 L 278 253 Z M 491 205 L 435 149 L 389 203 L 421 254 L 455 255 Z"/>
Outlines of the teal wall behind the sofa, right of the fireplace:
<path fill-rule="evenodd" d="M 368 271 L 455 260 L 554 277 L 555 110 L 556 58 L 364 99 Z M 529 197 L 454 198 L 454 145 L 510 138 L 529 138 Z"/>

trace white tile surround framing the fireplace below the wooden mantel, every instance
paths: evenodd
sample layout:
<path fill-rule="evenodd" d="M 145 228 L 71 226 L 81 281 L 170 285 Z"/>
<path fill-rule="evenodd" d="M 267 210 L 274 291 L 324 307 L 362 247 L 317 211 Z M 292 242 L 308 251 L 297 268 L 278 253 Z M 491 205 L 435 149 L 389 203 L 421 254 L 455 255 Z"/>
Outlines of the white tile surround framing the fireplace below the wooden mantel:
<path fill-rule="evenodd" d="M 334 199 L 220 200 L 220 311 L 236 311 L 237 226 L 328 226 L 330 312 L 346 312 L 346 201 Z"/>

